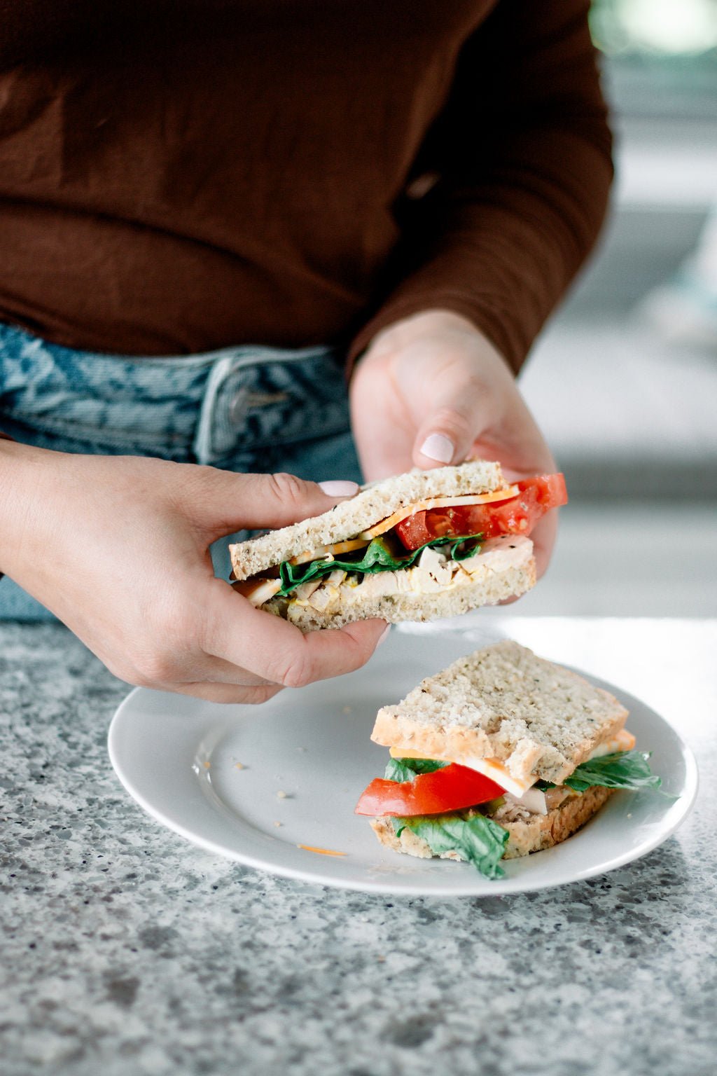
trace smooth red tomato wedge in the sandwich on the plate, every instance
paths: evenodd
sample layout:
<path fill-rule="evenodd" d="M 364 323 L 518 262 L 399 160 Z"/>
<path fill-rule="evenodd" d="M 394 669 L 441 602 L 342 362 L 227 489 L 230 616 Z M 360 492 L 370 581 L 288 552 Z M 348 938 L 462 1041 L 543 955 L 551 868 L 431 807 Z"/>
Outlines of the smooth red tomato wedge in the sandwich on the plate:
<path fill-rule="evenodd" d="M 502 796 L 504 789 L 468 766 L 450 763 L 413 781 L 385 781 L 377 777 L 361 794 L 357 815 L 443 815 Z"/>

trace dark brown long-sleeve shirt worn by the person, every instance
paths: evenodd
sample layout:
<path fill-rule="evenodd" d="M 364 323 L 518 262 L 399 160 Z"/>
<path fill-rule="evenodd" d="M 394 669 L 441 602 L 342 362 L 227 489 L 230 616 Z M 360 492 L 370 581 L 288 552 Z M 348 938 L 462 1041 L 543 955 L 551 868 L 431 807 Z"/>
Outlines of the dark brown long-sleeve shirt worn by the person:
<path fill-rule="evenodd" d="M 517 369 L 605 209 L 587 9 L 3 0 L 0 320 L 355 355 L 442 307 Z"/>

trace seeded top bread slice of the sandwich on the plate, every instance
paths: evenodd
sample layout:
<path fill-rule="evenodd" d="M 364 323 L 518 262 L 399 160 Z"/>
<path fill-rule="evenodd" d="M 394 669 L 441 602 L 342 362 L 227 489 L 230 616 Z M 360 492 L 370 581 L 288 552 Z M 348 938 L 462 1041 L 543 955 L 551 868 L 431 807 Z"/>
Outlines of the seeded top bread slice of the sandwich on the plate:
<path fill-rule="evenodd" d="M 505 639 L 383 707 L 371 739 L 454 762 L 496 759 L 516 780 L 561 784 L 627 717 L 608 692 Z"/>

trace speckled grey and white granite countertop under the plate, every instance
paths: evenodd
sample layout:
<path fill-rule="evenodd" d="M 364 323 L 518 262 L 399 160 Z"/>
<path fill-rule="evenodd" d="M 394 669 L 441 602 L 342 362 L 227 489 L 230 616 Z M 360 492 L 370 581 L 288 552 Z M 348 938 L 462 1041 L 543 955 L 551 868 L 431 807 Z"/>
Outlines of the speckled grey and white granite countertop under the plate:
<path fill-rule="evenodd" d="M 604 877 L 450 901 L 199 851 L 112 770 L 127 686 L 62 627 L 0 625 L 4 1076 L 714 1076 L 717 621 L 540 623 L 680 728 L 698 805 Z"/>

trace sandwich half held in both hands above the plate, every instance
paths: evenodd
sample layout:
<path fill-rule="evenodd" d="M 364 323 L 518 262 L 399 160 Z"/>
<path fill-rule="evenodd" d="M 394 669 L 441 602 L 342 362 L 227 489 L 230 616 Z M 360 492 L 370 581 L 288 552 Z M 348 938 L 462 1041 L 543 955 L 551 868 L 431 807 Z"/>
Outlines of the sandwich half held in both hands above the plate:
<path fill-rule="evenodd" d="M 451 617 L 535 582 L 528 537 L 568 500 L 562 475 L 508 483 L 500 465 L 413 470 L 229 551 L 234 587 L 302 631 Z"/>

